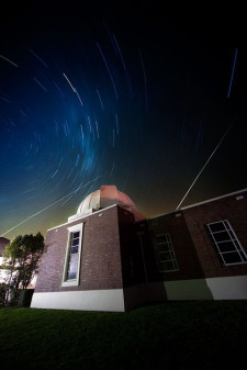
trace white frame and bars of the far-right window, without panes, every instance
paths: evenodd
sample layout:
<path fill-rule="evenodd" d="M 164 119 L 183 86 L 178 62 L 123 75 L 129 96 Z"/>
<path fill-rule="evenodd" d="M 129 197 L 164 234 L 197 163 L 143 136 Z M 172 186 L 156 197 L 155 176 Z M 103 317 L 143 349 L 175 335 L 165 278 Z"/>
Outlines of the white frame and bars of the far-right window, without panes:
<path fill-rule="evenodd" d="M 224 225 L 224 229 L 218 231 L 218 232 L 213 232 L 211 229 L 211 225 L 215 225 L 215 224 L 220 224 L 220 223 Z M 212 238 L 213 245 L 215 246 L 215 249 L 216 249 L 216 251 L 220 256 L 220 259 L 221 259 L 223 266 L 247 264 L 247 254 L 246 254 L 245 249 L 243 248 L 240 242 L 238 240 L 237 235 L 235 234 L 235 232 L 234 232 L 233 227 L 231 226 L 228 220 L 221 220 L 221 221 L 212 222 L 210 224 L 206 224 L 206 226 L 207 226 L 210 236 Z M 215 234 L 225 233 L 225 232 L 227 232 L 227 234 L 228 234 L 228 239 L 217 242 L 215 239 Z M 221 250 L 221 243 L 226 243 L 226 242 L 232 242 L 232 245 L 233 245 L 234 249 L 227 250 L 227 251 L 222 251 Z M 226 264 L 226 261 L 224 259 L 224 255 L 227 255 L 229 253 L 237 253 L 240 261 L 239 262 Z"/>

